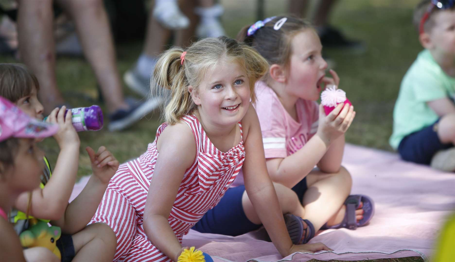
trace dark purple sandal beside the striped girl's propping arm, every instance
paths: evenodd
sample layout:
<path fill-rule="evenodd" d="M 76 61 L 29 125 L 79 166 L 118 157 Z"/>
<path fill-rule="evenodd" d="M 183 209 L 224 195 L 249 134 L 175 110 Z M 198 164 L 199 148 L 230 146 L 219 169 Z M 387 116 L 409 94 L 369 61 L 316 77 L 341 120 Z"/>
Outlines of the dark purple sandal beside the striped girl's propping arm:
<path fill-rule="evenodd" d="M 293 214 L 284 215 L 284 222 L 286 223 L 286 228 L 288 229 L 289 237 L 291 237 L 292 243 L 294 245 L 306 244 L 314 237 L 314 227 L 311 222 L 307 219 L 302 219 Z M 307 228 L 303 228 L 303 223 L 307 224 Z M 308 236 L 307 236 L 307 232 Z"/>

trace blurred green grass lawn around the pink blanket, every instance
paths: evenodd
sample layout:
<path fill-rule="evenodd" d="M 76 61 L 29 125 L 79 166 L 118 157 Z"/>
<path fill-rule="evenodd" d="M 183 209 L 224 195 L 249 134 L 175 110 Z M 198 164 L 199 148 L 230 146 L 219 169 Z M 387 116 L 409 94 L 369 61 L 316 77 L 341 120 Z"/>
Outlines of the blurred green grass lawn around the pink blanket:
<path fill-rule="evenodd" d="M 356 119 L 346 134 L 347 142 L 391 150 L 388 139 L 392 132 L 392 112 L 400 81 L 422 49 L 411 25 L 413 7 L 419 0 L 342 0 L 334 8 L 331 24 L 350 38 L 363 40 L 364 54 L 354 55 L 341 50 L 325 50 L 336 62 L 346 91 L 356 110 Z M 222 21 L 227 35 L 235 37 L 238 30 L 256 18 L 255 0 L 221 0 L 225 6 Z M 265 0 L 266 15 L 283 14 L 286 0 Z M 130 68 L 140 54 L 140 41 L 117 46 L 120 73 Z M 15 62 L 0 56 L 2 62 Z M 57 61 L 57 81 L 65 98 L 73 105 L 89 106 L 97 101 L 96 79 L 84 59 L 61 57 Z M 134 95 L 125 88 L 126 95 Z M 88 99 L 87 99 L 88 97 Z M 103 108 L 104 105 L 100 104 Z M 137 157 L 155 138 L 160 124 L 159 112 L 148 115 L 131 129 L 122 132 L 81 132 L 81 154 L 78 176 L 91 173 L 90 161 L 84 150 L 87 145 L 105 145 L 120 162 Z M 41 143 L 46 155 L 55 163 L 58 146 L 53 139 Z M 316 261 L 316 260 L 312 260 Z M 417 262 L 420 257 L 379 259 L 375 262 Z"/>

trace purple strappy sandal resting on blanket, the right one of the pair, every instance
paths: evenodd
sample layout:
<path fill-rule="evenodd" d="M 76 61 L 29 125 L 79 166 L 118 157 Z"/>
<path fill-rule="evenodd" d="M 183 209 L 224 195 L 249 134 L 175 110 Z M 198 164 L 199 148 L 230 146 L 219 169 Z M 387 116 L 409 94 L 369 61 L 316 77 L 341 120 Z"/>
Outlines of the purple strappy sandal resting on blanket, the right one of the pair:
<path fill-rule="evenodd" d="M 362 209 L 364 210 L 363 218 L 359 221 L 355 219 L 355 210 L 359 207 L 360 202 L 364 203 Z M 350 195 L 344 201 L 344 205 L 346 206 L 346 213 L 344 214 L 343 221 L 338 225 L 334 226 L 324 226 L 321 229 L 330 229 L 330 228 L 349 228 L 351 230 L 356 229 L 357 227 L 363 227 L 366 225 L 374 215 L 374 202 L 373 199 L 365 196 L 365 195 Z"/>

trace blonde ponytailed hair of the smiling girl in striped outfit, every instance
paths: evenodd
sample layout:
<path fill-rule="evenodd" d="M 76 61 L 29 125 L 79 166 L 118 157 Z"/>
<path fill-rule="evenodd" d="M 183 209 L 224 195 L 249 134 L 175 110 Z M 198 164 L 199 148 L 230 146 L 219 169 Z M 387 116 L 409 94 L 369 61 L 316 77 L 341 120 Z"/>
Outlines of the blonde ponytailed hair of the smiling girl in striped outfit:
<path fill-rule="evenodd" d="M 195 42 L 186 50 L 184 61 L 180 58 L 183 52 L 174 47 L 161 54 L 150 84 L 152 94 L 162 95 L 159 93 L 166 90 L 170 93 L 162 111 L 169 124 L 178 123 L 197 109 L 187 88 L 191 85 L 197 91 L 208 69 L 226 61 L 238 63 L 249 80 L 252 101 L 255 82 L 268 70 L 267 61 L 255 49 L 226 36 Z"/>

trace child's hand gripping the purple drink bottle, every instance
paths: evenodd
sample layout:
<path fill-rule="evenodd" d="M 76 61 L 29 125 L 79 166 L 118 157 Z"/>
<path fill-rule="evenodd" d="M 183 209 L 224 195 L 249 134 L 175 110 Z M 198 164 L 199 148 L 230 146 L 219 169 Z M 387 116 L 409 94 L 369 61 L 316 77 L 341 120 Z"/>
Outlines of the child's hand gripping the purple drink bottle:
<path fill-rule="evenodd" d="M 68 110 L 66 115 L 65 111 L 66 106 L 52 110 L 51 114 L 46 119 L 46 122 L 58 124 L 58 132 L 54 135 L 54 138 L 57 140 L 60 149 L 71 145 L 75 145 L 79 148 L 81 142 L 76 129 L 73 127 L 71 110 Z"/>

